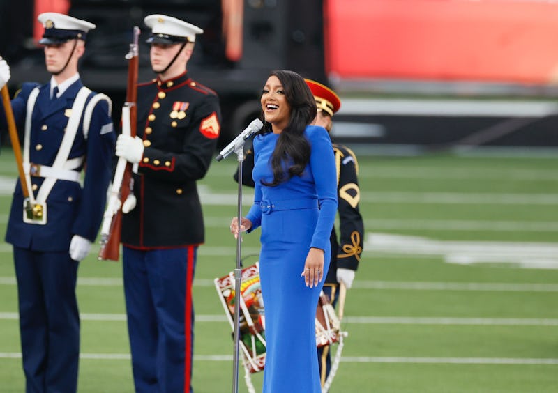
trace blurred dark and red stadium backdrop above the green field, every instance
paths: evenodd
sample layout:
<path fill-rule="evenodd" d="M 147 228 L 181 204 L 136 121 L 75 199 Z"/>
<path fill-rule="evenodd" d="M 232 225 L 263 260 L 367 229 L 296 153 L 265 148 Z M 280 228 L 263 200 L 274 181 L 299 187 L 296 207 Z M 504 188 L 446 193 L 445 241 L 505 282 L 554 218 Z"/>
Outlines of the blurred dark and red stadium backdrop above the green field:
<path fill-rule="evenodd" d="M 114 101 L 126 88 L 133 26 L 163 13 L 204 29 L 191 75 L 223 109 L 223 145 L 259 115 L 270 70 L 287 68 L 343 98 L 333 137 L 394 153 L 456 146 L 556 147 L 558 3 L 543 0 L 20 0 L 0 6 L 0 54 L 15 91 L 45 81 L 43 27 L 57 10 L 97 25 L 82 79 Z M 386 150 L 389 149 L 389 150 Z"/>

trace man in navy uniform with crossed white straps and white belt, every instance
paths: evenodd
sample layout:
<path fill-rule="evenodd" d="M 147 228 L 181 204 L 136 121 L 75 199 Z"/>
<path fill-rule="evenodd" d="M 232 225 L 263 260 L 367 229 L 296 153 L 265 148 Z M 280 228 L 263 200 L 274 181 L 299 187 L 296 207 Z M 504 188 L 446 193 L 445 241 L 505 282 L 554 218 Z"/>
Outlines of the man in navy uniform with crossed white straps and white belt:
<path fill-rule="evenodd" d="M 103 219 L 116 135 L 110 99 L 84 87 L 77 72 L 95 25 L 59 13 L 38 20 L 45 26 L 39 43 L 52 77 L 43 85 L 23 84 L 11 102 L 24 134 L 27 181 L 15 186 L 6 242 L 13 245 L 26 391 L 75 392 L 77 268 Z M 0 61 L 0 81 L 7 81 L 6 70 Z M 0 127 L 5 125 L 2 109 Z"/>

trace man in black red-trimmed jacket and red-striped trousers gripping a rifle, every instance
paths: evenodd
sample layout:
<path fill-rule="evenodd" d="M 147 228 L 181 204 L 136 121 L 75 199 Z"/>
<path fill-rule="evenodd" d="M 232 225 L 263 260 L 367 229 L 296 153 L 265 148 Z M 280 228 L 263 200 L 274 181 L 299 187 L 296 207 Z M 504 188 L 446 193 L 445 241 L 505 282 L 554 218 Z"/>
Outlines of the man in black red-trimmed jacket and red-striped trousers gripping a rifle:
<path fill-rule="evenodd" d="M 192 282 L 204 242 L 196 181 L 209 169 L 220 131 L 218 96 L 186 72 L 193 24 L 149 15 L 156 79 L 137 91 L 137 136 L 116 155 L 137 166 L 123 204 L 123 275 L 137 392 L 192 391 Z M 128 213 L 126 213 L 128 212 Z"/>

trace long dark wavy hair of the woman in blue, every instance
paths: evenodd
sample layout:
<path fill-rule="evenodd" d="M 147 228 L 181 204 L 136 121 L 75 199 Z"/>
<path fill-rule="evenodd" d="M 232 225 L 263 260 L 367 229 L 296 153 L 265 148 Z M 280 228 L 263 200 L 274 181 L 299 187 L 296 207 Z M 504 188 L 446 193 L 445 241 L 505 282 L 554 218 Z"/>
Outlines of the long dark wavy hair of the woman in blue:
<path fill-rule="evenodd" d="M 271 155 L 273 181 L 263 185 L 274 187 L 293 176 L 300 176 L 310 160 L 310 144 L 304 137 L 306 126 L 316 117 L 316 101 L 303 77 L 293 71 L 276 70 L 269 77 L 276 76 L 283 86 L 285 99 L 291 107 L 289 124 L 279 134 Z M 262 114 L 263 118 L 263 114 Z M 271 124 L 265 123 L 262 133 L 271 132 Z"/>

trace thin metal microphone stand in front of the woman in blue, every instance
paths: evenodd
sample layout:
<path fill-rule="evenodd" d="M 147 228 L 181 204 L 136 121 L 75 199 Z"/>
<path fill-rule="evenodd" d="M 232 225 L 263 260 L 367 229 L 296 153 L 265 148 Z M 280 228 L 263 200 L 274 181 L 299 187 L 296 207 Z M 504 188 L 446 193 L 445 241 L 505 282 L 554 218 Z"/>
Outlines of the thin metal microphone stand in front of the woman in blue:
<path fill-rule="evenodd" d="M 241 241 L 242 231 L 240 229 L 242 217 L 242 162 L 244 161 L 244 141 L 239 141 L 234 146 L 234 153 L 236 153 L 239 162 L 239 192 L 237 201 L 236 219 L 238 219 L 239 236 L 236 238 L 236 269 L 234 269 L 234 355 L 232 360 L 233 377 L 232 377 L 232 392 L 239 392 L 239 341 L 240 341 L 240 301 L 241 301 L 241 279 L 242 279 L 242 265 L 241 265 Z"/>

